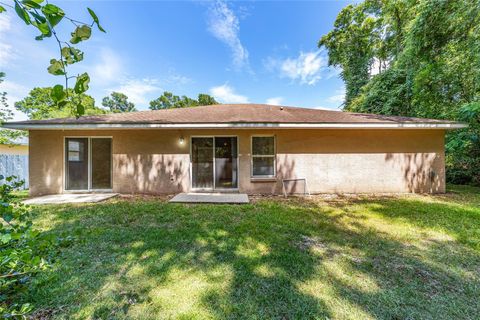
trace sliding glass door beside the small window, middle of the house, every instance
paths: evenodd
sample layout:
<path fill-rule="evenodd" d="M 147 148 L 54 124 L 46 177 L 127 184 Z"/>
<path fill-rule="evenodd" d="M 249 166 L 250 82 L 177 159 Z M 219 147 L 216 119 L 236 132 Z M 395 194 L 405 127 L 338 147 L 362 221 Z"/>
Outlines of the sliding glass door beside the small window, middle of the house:
<path fill-rule="evenodd" d="M 237 137 L 193 137 L 192 188 L 238 188 Z"/>

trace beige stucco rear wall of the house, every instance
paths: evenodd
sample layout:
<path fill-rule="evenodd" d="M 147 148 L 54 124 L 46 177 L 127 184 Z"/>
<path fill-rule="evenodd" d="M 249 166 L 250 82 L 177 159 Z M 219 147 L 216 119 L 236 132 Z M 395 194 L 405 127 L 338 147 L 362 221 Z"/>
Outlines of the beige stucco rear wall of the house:
<path fill-rule="evenodd" d="M 254 134 L 276 137 L 276 181 L 250 179 Z M 189 191 L 192 135 L 238 136 L 240 192 L 280 193 L 281 179 L 294 177 L 307 178 L 312 193 L 445 191 L 443 130 L 159 129 L 31 131 L 30 192 L 63 192 L 65 136 L 113 138 L 115 192 Z"/>

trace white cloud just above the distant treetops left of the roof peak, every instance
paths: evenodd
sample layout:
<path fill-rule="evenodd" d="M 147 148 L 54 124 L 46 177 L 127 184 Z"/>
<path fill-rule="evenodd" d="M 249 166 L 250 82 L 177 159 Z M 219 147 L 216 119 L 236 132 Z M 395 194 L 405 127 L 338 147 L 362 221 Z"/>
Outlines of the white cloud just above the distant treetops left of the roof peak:
<path fill-rule="evenodd" d="M 120 86 L 110 89 L 127 95 L 128 99 L 138 105 L 145 105 L 150 100 L 150 94 L 160 91 L 158 80 L 156 79 L 129 79 L 125 80 Z"/>

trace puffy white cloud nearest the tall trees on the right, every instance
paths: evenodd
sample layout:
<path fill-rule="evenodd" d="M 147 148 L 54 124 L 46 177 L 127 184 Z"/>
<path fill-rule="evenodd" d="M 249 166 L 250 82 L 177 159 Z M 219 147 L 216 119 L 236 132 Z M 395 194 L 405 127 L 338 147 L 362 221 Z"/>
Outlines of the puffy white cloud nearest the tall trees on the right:
<path fill-rule="evenodd" d="M 296 58 L 269 58 L 265 65 L 270 71 L 279 72 L 280 77 L 308 85 L 320 80 L 322 71 L 328 68 L 327 59 L 322 51 L 300 52 Z"/>

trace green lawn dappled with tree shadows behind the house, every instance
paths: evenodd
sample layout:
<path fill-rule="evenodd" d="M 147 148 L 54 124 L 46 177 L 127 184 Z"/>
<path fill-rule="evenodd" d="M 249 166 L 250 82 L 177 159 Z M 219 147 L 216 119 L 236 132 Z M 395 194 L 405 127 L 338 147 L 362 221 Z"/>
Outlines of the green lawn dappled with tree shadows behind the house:
<path fill-rule="evenodd" d="M 24 298 L 60 319 L 478 319 L 480 189 L 44 206 L 76 242 Z"/>

